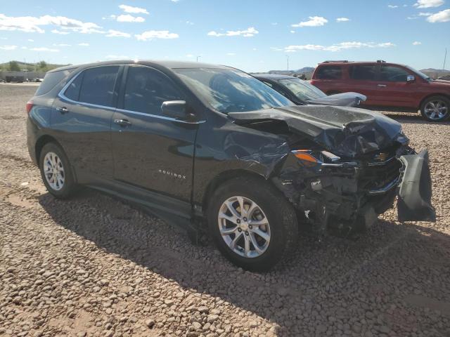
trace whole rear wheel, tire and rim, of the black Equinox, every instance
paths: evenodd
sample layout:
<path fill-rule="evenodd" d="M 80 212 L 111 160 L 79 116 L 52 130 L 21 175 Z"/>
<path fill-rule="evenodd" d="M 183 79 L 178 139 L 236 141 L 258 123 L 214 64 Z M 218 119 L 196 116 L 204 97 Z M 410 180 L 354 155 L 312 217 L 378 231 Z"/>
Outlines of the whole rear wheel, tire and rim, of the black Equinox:
<path fill-rule="evenodd" d="M 52 158 L 53 160 L 51 160 Z M 60 169 L 61 166 L 63 171 Z M 52 176 L 56 177 L 54 173 L 55 167 L 57 168 L 56 171 L 58 171 L 59 177 L 62 179 L 52 180 L 51 178 L 47 178 L 50 174 L 47 171 L 48 168 L 53 168 Z M 59 145 L 47 143 L 42 147 L 41 154 L 39 155 L 39 169 L 41 170 L 42 181 L 53 197 L 58 199 L 68 199 L 73 192 L 75 192 L 76 183 L 72 172 L 72 166 L 70 166 L 68 157 Z M 61 181 L 63 183 L 61 183 Z"/>

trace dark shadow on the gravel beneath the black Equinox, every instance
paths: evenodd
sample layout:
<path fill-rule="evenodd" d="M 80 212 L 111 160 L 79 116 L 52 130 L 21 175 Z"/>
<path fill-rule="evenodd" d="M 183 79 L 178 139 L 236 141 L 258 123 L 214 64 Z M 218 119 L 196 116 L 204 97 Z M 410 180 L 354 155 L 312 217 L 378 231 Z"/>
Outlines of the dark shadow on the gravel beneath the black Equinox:
<path fill-rule="evenodd" d="M 304 235 L 289 262 L 258 274 L 231 265 L 212 244 L 193 246 L 177 227 L 92 190 L 69 201 L 43 194 L 39 203 L 99 249 L 275 322 L 281 335 L 356 317 L 402 336 L 411 325 L 432 326 L 416 315 L 436 302 L 450 312 L 450 237 L 429 227 L 378 220 L 352 241 Z"/>

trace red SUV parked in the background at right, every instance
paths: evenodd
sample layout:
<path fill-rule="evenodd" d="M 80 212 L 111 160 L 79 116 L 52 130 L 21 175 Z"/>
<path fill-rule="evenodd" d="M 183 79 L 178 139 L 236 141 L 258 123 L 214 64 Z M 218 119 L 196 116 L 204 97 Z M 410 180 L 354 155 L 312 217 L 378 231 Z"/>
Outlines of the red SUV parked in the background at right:
<path fill-rule="evenodd" d="M 430 79 L 407 65 L 385 61 L 326 61 L 314 70 L 311 84 L 328 95 L 356 91 L 367 96 L 362 105 L 420 113 L 429 121 L 450 116 L 450 81 Z"/>

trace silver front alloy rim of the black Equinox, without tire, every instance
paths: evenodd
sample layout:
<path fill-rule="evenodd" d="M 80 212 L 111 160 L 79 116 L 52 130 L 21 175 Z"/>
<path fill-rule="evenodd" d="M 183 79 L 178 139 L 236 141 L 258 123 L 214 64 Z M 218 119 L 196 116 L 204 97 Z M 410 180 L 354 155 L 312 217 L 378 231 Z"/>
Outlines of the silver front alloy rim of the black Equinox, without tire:
<path fill-rule="evenodd" d="M 219 231 L 227 246 L 245 258 L 257 258 L 269 247 L 269 220 L 249 198 L 231 197 L 219 209 Z"/>

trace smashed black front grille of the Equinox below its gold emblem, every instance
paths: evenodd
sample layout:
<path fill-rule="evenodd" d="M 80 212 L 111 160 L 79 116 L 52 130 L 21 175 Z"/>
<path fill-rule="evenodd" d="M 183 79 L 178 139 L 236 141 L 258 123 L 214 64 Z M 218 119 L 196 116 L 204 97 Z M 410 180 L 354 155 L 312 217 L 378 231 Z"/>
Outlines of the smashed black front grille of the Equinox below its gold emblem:
<path fill-rule="evenodd" d="M 400 176 L 401 162 L 390 157 L 384 162 L 369 162 L 361 170 L 361 187 L 368 190 L 380 190 Z"/>

